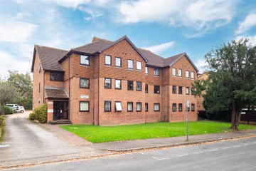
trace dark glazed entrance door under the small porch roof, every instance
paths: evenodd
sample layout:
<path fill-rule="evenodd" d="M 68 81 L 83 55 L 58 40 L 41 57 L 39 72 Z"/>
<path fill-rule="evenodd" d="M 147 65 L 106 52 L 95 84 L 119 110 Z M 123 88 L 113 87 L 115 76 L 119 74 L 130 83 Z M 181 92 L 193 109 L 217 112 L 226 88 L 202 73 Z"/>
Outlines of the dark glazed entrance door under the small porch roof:
<path fill-rule="evenodd" d="M 68 120 L 68 102 L 53 102 L 53 120 Z"/>

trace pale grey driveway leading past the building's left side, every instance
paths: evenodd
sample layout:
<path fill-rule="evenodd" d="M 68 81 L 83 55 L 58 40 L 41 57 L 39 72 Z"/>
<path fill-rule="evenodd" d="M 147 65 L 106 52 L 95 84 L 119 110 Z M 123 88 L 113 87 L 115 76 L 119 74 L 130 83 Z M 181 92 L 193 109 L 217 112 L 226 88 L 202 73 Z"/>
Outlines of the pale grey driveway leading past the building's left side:
<path fill-rule="evenodd" d="M 88 145 L 71 145 L 43 125 L 28 120 L 28 113 L 6 115 L 5 136 L 0 145 L 0 166 L 102 153 Z"/>

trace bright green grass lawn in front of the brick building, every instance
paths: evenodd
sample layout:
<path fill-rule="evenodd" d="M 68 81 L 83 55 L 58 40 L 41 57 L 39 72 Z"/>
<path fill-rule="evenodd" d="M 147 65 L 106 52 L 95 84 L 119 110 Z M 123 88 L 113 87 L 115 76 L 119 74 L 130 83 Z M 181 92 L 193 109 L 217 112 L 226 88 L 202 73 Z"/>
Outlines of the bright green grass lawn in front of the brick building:
<path fill-rule="evenodd" d="M 90 142 L 110 142 L 121 140 L 142 140 L 147 138 L 168 138 L 186 135 L 186 122 L 181 123 L 146 123 L 138 125 L 97 126 L 63 125 L 60 126 Z M 239 125 L 240 130 L 256 129 L 255 125 Z M 227 133 L 230 123 L 214 121 L 196 121 L 188 123 L 189 135 L 208 133 Z"/>

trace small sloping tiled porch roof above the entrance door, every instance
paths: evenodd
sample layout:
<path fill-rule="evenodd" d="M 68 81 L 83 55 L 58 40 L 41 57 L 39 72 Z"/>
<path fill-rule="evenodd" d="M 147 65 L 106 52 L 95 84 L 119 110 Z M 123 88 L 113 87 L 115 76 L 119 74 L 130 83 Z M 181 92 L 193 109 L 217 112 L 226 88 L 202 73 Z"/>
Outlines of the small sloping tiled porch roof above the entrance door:
<path fill-rule="evenodd" d="M 68 98 L 68 93 L 64 88 L 46 86 L 47 98 Z"/>

